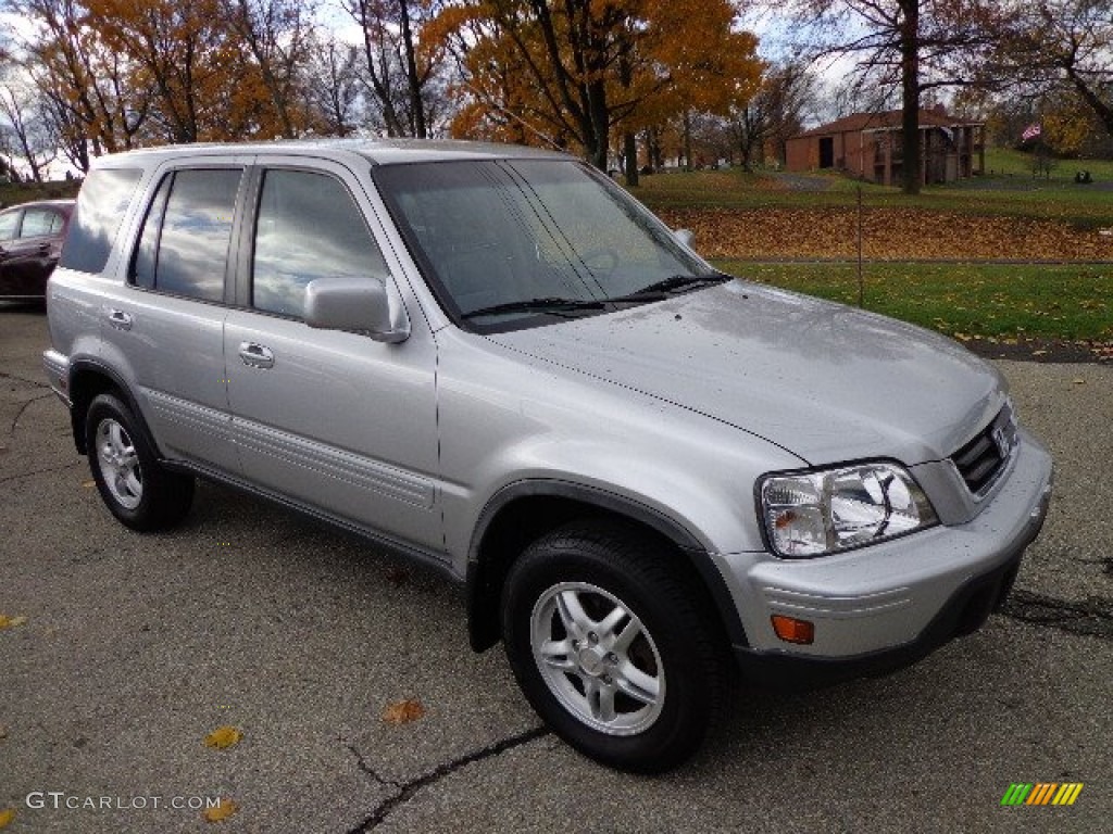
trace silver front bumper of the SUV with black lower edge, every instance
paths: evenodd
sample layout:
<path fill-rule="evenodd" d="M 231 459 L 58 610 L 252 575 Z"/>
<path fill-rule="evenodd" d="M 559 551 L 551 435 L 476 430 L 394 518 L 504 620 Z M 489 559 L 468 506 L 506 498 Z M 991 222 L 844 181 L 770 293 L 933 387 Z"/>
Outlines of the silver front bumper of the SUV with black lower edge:
<path fill-rule="evenodd" d="M 966 524 L 807 560 L 720 556 L 746 629 L 748 645 L 736 647 L 743 672 L 766 682 L 856 676 L 978 628 L 1043 526 L 1051 483 L 1050 455 L 1022 431 L 999 486 Z M 775 614 L 814 623 L 815 641 L 780 641 Z"/>

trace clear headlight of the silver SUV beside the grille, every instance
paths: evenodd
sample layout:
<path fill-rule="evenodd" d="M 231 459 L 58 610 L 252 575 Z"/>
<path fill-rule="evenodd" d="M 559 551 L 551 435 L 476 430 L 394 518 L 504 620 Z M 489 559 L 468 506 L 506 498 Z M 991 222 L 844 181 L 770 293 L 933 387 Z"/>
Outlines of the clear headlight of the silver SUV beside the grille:
<path fill-rule="evenodd" d="M 938 524 L 927 496 L 896 464 L 859 464 L 760 484 L 761 517 L 780 556 L 821 556 Z"/>

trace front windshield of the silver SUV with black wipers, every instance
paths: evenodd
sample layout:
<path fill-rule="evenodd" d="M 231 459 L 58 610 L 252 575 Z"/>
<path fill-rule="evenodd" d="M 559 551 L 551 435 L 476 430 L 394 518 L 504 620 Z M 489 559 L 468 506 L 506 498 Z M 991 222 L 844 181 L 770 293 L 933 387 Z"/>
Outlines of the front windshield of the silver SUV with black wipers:
<path fill-rule="evenodd" d="M 442 305 L 480 331 L 598 315 L 723 279 L 572 160 L 383 166 L 375 180 Z"/>

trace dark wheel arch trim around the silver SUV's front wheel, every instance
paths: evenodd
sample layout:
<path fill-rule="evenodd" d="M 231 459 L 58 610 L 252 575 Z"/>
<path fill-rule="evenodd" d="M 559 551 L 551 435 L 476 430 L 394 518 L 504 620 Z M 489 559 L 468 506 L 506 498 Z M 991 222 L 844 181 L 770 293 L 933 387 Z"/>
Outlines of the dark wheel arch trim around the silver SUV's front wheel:
<path fill-rule="evenodd" d="M 531 478 L 509 484 L 495 493 L 483 507 L 472 532 L 471 543 L 467 547 L 465 595 L 467 634 L 473 649 L 483 652 L 491 648 L 500 639 L 499 600 L 492 598 L 494 588 L 491 586 L 490 577 L 484 572 L 484 564 L 480 559 L 480 548 L 491 523 L 500 510 L 514 500 L 531 497 L 564 498 L 599 507 L 615 515 L 627 516 L 667 538 L 696 568 L 703 586 L 711 595 L 715 607 L 718 609 L 719 620 L 722 623 L 730 643 L 736 647 L 749 646 L 741 617 L 722 574 L 707 548 L 687 527 L 649 505 L 607 489 L 569 480 Z"/>

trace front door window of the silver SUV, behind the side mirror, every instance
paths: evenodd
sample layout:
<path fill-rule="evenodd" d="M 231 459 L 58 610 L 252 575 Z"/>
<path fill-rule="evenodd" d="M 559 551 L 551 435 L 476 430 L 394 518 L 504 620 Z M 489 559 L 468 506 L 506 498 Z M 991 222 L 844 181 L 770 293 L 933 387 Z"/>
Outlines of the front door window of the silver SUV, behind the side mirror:
<path fill-rule="evenodd" d="M 313 279 L 384 272 L 386 262 L 339 180 L 313 171 L 266 172 L 255 225 L 253 307 L 301 318 Z"/>

